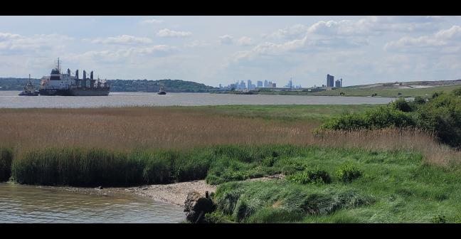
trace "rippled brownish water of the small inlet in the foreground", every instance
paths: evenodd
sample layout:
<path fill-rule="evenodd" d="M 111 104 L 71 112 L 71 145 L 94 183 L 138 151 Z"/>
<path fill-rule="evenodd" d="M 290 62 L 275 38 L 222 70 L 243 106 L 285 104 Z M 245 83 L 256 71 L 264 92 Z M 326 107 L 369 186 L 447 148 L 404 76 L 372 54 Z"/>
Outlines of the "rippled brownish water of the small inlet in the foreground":
<path fill-rule="evenodd" d="M 0 183 L 0 223 L 180 223 L 183 210 L 129 193 Z"/>

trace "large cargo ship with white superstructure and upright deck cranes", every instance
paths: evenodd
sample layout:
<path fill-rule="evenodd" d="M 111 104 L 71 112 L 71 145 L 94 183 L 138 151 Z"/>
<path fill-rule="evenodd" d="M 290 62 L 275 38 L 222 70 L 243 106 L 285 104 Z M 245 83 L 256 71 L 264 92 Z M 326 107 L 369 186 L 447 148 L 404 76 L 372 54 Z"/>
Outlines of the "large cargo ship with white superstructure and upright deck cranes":
<path fill-rule="evenodd" d="M 99 78 L 95 80 L 92 71 L 90 78 L 87 78 L 86 71 L 83 70 L 82 79 L 78 77 L 78 70 L 75 70 L 75 75 L 70 74 L 70 69 L 66 74 L 61 73 L 59 58 L 51 74 L 41 79 L 40 90 L 38 90 L 40 95 L 63 96 L 107 96 L 109 92 L 109 84 Z"/>

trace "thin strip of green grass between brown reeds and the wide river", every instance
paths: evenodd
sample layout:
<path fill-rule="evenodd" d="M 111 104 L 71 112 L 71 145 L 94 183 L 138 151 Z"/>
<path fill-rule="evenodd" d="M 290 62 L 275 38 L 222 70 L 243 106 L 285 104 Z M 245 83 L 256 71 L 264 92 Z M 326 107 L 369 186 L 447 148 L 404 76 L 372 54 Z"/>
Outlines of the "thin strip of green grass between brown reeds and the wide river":
<path fill-rule="evenodd" d="M 217 105 L 197 106 L 194 109 L 230 117 L 323 122 L 346 112 L 364 112 L 373 107 L 376 105 Z"/>

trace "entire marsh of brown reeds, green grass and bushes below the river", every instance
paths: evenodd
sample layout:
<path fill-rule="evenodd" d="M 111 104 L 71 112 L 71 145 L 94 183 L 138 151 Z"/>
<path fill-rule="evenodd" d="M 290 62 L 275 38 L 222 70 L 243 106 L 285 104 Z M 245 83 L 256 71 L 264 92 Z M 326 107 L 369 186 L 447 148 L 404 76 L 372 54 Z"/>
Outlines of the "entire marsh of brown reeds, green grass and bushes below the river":
<path fill-rule="evenodd" d="M 456 223 L 459 100 L 1 109 L 0 176 L 90 187 L 205 180 L 218 186 L 211 223 Z M 245 181 L 273 174 L 285 177 Z"/>

